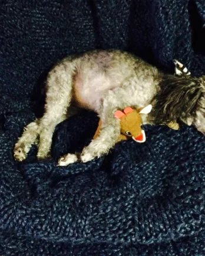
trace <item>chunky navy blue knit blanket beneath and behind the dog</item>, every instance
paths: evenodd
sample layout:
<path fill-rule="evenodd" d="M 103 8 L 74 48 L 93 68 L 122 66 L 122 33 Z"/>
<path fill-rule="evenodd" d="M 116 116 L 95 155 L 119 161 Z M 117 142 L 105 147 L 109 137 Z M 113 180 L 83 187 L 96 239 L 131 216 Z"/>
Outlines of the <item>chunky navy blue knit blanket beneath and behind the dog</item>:
<path fill-rule="evenodd" d="M 84 111 L 58 125 L 54 160 L 38 162 L 35 146 L 12 156 L 39 85 L 68 54 L 120 48 L 203 74 L 204 1 L 2 0 L 0 11 L 0 255 L 205 255 L 205 138 L 193 127 L 146 126 L 146 143 L 59 167 L 95 132 Z"/>

